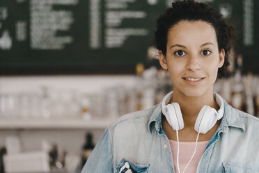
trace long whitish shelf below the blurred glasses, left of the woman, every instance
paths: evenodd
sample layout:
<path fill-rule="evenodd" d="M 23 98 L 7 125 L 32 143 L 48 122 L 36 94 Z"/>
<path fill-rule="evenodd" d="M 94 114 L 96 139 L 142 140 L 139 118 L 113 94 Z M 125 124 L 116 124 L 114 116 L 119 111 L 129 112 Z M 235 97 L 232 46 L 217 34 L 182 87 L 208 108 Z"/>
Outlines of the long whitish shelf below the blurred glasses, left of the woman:
<path fill-rule="evenodd" d="M 114 119 L 86 121 L 84 119 L 0 119 L 3 129 L 104 129 Z"/>

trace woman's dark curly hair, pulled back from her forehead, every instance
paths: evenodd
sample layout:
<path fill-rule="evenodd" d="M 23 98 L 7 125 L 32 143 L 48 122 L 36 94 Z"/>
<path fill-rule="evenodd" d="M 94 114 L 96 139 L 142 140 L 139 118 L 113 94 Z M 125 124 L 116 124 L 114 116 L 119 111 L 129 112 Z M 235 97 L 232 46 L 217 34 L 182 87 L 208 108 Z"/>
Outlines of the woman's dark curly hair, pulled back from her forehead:
<path fill-rule="evenodd" d="M 202 20 L 212 24 L 216 31 L 219 52 L 225 50 L 225 62 L 218 71 L 218 77 L 223 77 L 227 73 L 229 66 L 228 55 L 233 45 L 234 27 L 230 22 L 223 18 L 219 10 L 208 6 L 206 3 L 189 1 L 177 1 L 172 3 L 172 8 L 157 19 L 157 28 L 155 31 L 155 46 L 166 55 L 168 30 L 182 20 L 198 21 Z"/>

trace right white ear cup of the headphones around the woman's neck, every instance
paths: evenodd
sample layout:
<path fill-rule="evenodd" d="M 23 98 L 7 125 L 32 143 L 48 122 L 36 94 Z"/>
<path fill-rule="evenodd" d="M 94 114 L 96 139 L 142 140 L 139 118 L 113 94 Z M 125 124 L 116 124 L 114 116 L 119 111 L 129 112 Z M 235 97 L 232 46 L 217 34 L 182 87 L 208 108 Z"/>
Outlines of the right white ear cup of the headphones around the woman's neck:
<path fill-rule="evenodd" d="M 194 130 L 200 133 L 207 133 L 217 122 L 218 112 L 210 106 L 203 106 L 195 122 Z"/>

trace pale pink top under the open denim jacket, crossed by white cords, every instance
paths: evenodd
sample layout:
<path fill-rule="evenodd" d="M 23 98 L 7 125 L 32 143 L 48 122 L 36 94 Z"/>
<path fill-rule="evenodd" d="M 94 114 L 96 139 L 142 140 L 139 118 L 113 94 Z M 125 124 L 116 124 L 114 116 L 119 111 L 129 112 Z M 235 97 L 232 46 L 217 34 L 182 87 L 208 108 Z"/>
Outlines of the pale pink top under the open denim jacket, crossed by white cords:
<path fill-rule="evenodd" d="M 178 143 L 174 140 L 169 140 L 171 151 L 173 155 L 173 165 L 175 167 L 175 173 L 178 172 L 178 165 L 177 165 L 177 151 L 178 151 Z M 195 143 L 196 142 L 179 142 L 179 167 L 180 172 L 182 172 L 186 165 L 189 163 L 189 166 L 185 170 L 185 172 L 191 173 L 196 172 L 198 167 L 198 162 L 201 160 L 201 156 L 203 156 L 203 152 L 206 149 L 207 144 L 209 144 L 210 141 L 202 141 L 197 143 L 197 149 L 194 154 L 194 158 L 191 160 L 191 163 L 189 163 L 189 160 L 191 159 L 191 156 L 194 153 L 195 149 Z"/>

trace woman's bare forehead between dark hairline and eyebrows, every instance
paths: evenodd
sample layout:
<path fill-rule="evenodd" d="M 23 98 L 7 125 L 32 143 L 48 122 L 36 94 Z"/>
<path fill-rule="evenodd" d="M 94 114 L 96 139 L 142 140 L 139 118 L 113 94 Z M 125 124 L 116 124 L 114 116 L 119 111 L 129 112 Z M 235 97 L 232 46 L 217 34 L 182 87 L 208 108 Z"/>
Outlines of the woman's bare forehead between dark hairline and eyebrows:
<path fill-rule="evenodd" d="M 198 21 L 180 21 L 168 30 L 168 44 L 217 43 L 212 24 Z"/>

